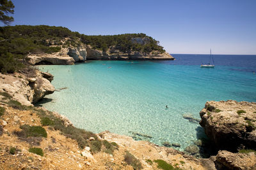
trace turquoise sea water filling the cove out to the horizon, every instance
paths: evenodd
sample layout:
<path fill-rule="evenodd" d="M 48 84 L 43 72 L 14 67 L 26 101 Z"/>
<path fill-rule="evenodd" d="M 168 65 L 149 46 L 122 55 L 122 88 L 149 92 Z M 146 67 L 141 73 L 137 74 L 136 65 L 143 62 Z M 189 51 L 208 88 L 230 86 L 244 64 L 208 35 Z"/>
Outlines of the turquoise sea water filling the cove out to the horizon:
<path fill-rule="evenodd" d="M 138 132 L 157 145 L 180 143 L 183 150 L 204 131 L 182 115 L 200 119 L 211 100 L 256 101 L 256 56 L 214 55 L 214 69 L 199 67 L 207 55 L 173 56 L 177 60 L 40 66 L 54 75 L 56 89 L 68 87 L 41 104 L 88 131 Z"/>

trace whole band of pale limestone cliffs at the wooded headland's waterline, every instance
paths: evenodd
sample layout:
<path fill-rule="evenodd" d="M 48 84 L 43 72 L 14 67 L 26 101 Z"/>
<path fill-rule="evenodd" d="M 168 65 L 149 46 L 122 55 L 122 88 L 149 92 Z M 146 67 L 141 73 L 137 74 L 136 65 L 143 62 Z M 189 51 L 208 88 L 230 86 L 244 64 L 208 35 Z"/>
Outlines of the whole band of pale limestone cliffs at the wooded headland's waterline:
<path fill-rule="evenodd" d="M 27 60 L 31 65 L 73 65 L 76 62 L 85 62 L 86 60 L 174 60 L 174 57 L 167 52 L 123 53 L 114 48 L 109 48 L 106 52 L 102 52 L 102 50 L 93 49 L 90 45 L 80 45 L 61 48 L 60 52 L 52 54 L 29 54 Z"/>

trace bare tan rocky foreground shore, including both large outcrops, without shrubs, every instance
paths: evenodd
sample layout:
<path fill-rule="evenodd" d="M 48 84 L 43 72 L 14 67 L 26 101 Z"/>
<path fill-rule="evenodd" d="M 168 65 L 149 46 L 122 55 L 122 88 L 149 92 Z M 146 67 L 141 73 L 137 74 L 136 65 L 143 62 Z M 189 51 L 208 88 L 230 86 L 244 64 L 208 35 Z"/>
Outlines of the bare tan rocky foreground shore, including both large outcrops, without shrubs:
<path fill-rule="evenodd" d="M 28 71 L 28 73 L 0 75 L 0 97 L 1 101 L 6 101 L 5 103 L 0 103 L 1 107 L 6 110 L 6 113 L 0 118 L 0 130 L 2 132 L 0 141 L 8 141 L 8 143 L 0 143 L 0 148 L 2 148 L 0 157 L 1 160 L 4 160 L 4 162 L 0 162 L 0 167 L 18 169 L 20 167 L 34 166 L 40 167 L 40 169 L 62 169 L 64 168 L 62 166 L 63 162 L 69 161 L 70 169 L 132 169 L 134 167 L 124 161 L 124 155 L 128 151 L 141 162 L 143 169 L 157 169 L 157 162 L 154 162 L 154 160 L 163 160 L 172 167 L 180 169 L 256 168 L 256 156 L 255 153 L 253 153 L 256 139 L 256 103 L 238 103 L 236 101 L 207 102 L 205 108 L 200 111 L 202 118 L 200 125 L 204 127 L 205 134 L 212 139 L 217 147 L 220 147 L 218 154 L 212 155 L 209 159 L 198 159 L 191 155 L 186 155 L 184 152 L 174 150 L 173 148 L 157 146 L 147 141 L 134 141 L 131 137 L 113 134 L 108 131 L 97 134 L 97 138 L 99 138 L 100 141 L 106 140 L 109 143 L 116 143 L 118 150 L 115 150 L 112 154 L 108 154 L 104 151 L 92 154 L 90 148 L 89 150 L 88 148 L 87 150 L 86 148 L 79 149 L 76 141 L 63 136 L 60 131 L 52 131 L 51 126 L 45 127 L 47 134 L 57 141 L 61 141 L 61 145 L 60 143 L 52 142 L 52 138 L 49 137 L 41 141 L 41 146 L 46 154 L 45 157 L 30 153 L 28 152 L 28 143 L 20 141 L 19 138 L 12 133 L 13 129 L 20 129 L 19 127 L 24 124 L 42 125 L 42 122 L 40 122 L 38 116 L 33 114 L 35 111 L 17 110 L 9 106 L 7 101 L 8 98 L 11 98 L 15 101 L 19 101 L 22 105 L 33 106 L 34 103 L 42 99 L 45 95 L 54 92 L 55 89 L 51 85 L 52 79 L 53 76 L 51 74 L 42 73 L 37 70 Z M 48 113 L 44 108 L 40 109 Z M 38 110 L 38 108 L 35 110 Z M 237 111 L 239 112 L 237 113 Z M 49 114 L 60 118 L 65 127 L 73 127 L 68 118 L 58 113 L 49 112 Z M 188 115 L 184 115 L 184 117 L 191 120 Z M 31 122 L 31 120 L 34 121 Z M 196 122 L 198 121 L 196 120 Z M 230 138 L 230 136 L 232 136 L 232 138 Z M 10 159 L 13 157 L 9 153 L 9 149 L 12 146 L 21 150 L 19 153 L 15 153 L 15 159 Z M 51 149 L 49 149 L 49 147 L 59 149 L 58 151 L 50 151 Z M 234 149 L 236 149 L 236 152 L 234 152 Z M 237 150 L 241 149 L 251 150 L 244 150 L 244 153 L 237 153 Z M 67 150 L 68 154 L 66 154 Z M 67 157 L 65 155 L 67 155 Z M 35 162 L 32 162 L 35 163 L 33 166 L 31 166 L 32 163 L 28 161 L 30 157 L 36 159 Z M 70 160 L 69 157 L 75 159 Z M 5 164 L 9 162 L 13 165 L 14 162 L 12 161 L 14 160 L 20 162 L 22 162 L 21 160 L 26 161 L 23 161 L 24 164 L 22 165 L 17 164 L 13 167 L 9 164 Z M 52 162 L 52 160 L 56 162 Z"/>

